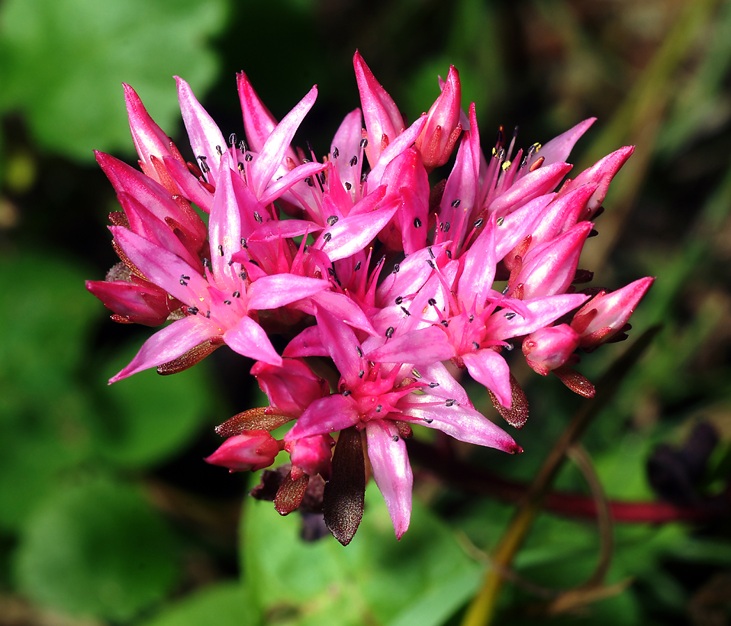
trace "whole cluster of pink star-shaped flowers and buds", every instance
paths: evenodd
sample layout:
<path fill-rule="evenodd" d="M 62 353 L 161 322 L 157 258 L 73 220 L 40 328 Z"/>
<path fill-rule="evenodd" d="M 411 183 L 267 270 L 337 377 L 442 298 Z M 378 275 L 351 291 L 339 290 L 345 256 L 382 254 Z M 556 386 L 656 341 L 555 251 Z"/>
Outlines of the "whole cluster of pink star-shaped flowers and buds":
<path fill-rule="evenodd" d="M 454 67 L 436 102 L 408 125 L 358 53 L 354 64 L 362 109 L 346 115 L 322 159 L 309 144 L 291 145 L 317 87 L 277 122 L 238 75 L 244 142 L 226 140 L 178 78 L 194 155 L 186 162 L 125 85 L 142 172 L 97 154 L 121 204 L 110 215 L 121 263 L 107 280 L 87 283 L 115 321 L 172 322 L 110 382 L 149 367 L 181 371 L 223 344 L 256 361 L 251 374 L 270 405 L 221 424 L 228 438 L 206 460 L 257 470 L 286 450 L 292 465 L 276 508 L 297 508 L 308 480 L 321 476 L 325 521 L 343 543 L 360 522 L 366 472 L 397 537 L 409 526 L 404 439 L 414 424 L 521 451 L 474 408 L 460 370 L 517 427 L 527 402 L 504 358 L 511 341 L 522 338 L 537 373 L 553 371 L 590 397 L 594 387 L 569 367 L 577 348 L 625 337 L 654 280 L 575 290 L 591 280 L 577 269 L 591 220 L 632 153 L 621 148 L 565 178 L 593 118 L 525 152 L 499 131 L 485 156 Z M 455 148 L 446 180 L 430 183 Z M 208 226 L 193 205 L 208 213 Z M 281 355 L 273 333 L 290 339 Z M 334 389 L 308 357 L 334 364 Z M 283 440 L 270 434 L 291 421 Z"/>

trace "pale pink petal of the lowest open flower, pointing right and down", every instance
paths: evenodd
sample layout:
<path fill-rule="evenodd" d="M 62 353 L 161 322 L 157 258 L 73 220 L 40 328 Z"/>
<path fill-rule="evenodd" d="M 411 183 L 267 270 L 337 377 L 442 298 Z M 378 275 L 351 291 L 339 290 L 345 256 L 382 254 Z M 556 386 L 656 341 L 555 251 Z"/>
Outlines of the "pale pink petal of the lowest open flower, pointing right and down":
<path fill-rule="evenodd" d="M 507 432 L 474 408 L 461 406 L 456 402 L 447 406 L 441 398 L 438 399 L 439 402 L 435 400 L 437 399 L 430 394 L 422 396 L 411 394 L 408 404 L 403 400 L 400 404 L 404 409 L 404 419 L 411 417 L 423 426 L 436 428 L 466 443 L 476 443 L 478 446 L 488 446 L 510 453 L 520 450 Z"/>

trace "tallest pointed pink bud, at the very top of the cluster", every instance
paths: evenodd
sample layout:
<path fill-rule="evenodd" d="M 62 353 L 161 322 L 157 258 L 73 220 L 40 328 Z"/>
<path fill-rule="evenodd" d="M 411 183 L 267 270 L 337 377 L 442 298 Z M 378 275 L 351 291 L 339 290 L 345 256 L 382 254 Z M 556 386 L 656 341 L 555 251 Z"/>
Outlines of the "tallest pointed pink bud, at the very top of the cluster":
<path fill-rule="evenodd" d="M 368 145 L 366 155 L 371 167 L 376 166 L 379 156 L 390 142 L 404 132 L 406 124 L 404 118 L 393 102 L 391 96 L 379 84 L 371 69 L 363 61 L 363 57 L 356 50 L 353 56 L 355 79 L 360 91 L 360 103 L 363 107 L 363 118 L 368 131 Z"/>

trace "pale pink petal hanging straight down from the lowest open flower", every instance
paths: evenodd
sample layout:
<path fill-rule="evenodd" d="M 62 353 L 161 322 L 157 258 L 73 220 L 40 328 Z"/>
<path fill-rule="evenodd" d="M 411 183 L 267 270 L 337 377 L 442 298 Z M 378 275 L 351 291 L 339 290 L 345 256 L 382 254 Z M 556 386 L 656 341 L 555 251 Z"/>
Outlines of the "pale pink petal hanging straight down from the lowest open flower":
<path fill-rule="evenodd" d="M 366 423 L 366 436 L 373 477 L 386 501 L 396 538 L 401 539 L 409 528 L 414 486 L 406 444 L 395 425 L 382 419 Z"/>

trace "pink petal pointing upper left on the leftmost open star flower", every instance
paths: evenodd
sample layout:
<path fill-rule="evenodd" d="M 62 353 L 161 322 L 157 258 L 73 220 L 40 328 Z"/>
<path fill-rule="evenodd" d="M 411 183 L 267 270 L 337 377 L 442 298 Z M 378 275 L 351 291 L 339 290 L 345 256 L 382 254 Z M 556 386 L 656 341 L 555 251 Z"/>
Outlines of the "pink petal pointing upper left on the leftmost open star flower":
<path fill-rule="evenodd" d="M 110 226 L 109 229 L 129 260 L 151 283 L 192 307 L 200 305 L 201 297 L 208 297 L 208 280 L 179 256 L 124 226 Z"/>

